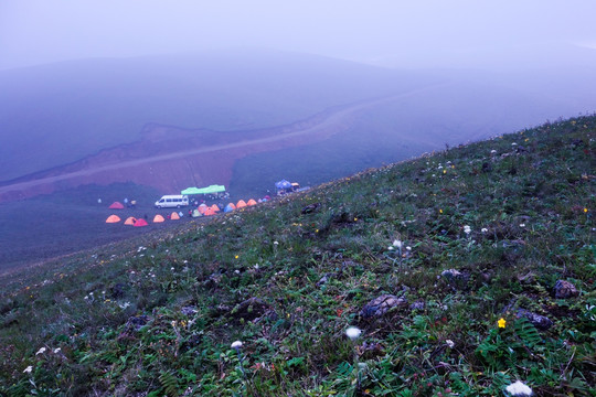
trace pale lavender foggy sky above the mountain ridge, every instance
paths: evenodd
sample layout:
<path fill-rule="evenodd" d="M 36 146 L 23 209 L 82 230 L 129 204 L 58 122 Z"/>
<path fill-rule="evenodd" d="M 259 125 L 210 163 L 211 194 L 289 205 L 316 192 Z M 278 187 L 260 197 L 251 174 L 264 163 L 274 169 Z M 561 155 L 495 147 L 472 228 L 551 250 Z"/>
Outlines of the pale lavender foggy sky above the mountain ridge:
<path fill-rule="evenodd" d="M 237 46 L 482 67 L 534 49 L 596 49 L 594 15 L 594 0 L 0 0 L 0 69 Z"/>

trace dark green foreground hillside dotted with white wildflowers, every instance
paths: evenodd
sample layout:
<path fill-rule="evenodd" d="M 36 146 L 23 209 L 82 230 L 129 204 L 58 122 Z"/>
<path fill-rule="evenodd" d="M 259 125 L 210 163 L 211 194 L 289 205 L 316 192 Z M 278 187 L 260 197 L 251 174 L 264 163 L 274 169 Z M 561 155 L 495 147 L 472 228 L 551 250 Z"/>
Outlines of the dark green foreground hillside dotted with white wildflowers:
<path fill-rule="evenodd" d="M 550 124 L 7 276 L 0 393 L 594 395 L 595 139 Z"/>

